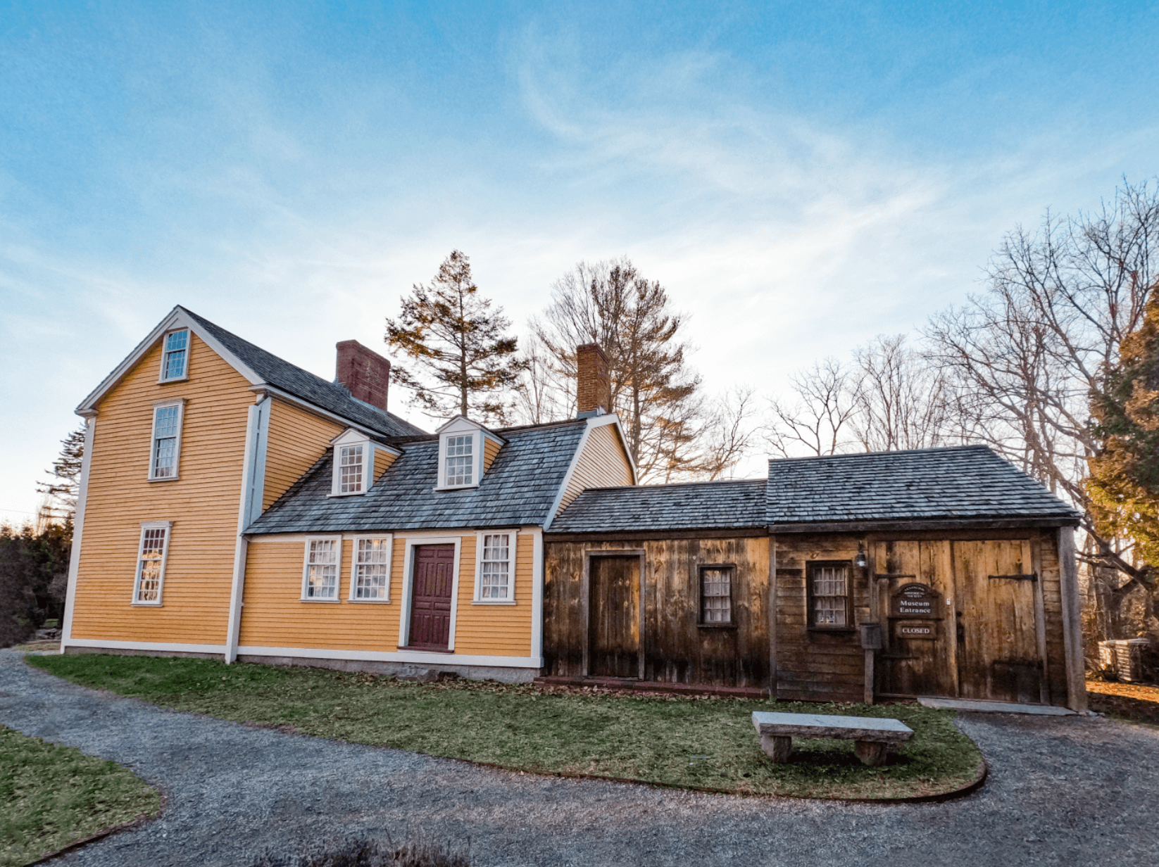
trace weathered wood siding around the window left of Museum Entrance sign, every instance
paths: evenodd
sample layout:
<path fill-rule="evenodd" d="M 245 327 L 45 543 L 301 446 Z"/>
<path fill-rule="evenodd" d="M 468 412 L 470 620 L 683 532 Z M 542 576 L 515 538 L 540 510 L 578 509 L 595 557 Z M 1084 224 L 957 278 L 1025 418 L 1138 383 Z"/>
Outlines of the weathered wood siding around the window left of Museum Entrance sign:
<path fill-rule="evenodd" d="M 861 701 L 865 651 L 857 629 L 810 629 L 806 570 L 810 560 L 850 560 L 858 539 L 840 534 L 778 536 L 777 698 L 801 701 Z M 851 570 L 853 622 L 869 619 L 869 582 Z"/>

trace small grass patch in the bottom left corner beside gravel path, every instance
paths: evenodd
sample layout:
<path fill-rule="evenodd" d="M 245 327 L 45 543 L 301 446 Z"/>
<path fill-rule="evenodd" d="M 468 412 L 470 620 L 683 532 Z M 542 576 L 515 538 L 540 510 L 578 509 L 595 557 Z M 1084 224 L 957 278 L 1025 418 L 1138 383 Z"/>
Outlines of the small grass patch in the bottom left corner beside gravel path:
<path fill-rule="evenodd" d="M 0 867 L 160 807 L 156 790 L 116 763 L 0 726 Z"/>

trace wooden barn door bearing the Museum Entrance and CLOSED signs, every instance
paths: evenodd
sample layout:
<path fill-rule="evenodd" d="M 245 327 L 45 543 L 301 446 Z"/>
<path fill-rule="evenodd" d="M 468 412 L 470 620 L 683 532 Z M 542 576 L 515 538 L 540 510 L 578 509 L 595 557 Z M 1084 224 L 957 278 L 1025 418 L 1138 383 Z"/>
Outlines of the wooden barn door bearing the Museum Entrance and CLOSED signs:
<path fill-rule="evenodd" d="M 946 605 L 954 590 L 950 544 L 875 542 L 874 573 L 885 643 L 876 657 L 877 692 L 957 697 L 954 622 Z"/>

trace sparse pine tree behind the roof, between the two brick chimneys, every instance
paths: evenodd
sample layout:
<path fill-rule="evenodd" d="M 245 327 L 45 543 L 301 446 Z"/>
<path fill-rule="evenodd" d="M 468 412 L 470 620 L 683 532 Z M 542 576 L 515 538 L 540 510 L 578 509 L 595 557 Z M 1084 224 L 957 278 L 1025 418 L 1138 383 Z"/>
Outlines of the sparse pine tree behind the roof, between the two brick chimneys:
<path fill-rule="evenodd" d="M 471 261 L 452 250 L 430 285 L 416 283 L 402 313 L 386 320 L 386 343 L 414 359 L 416 370 L 394 367 L 394 380 L 410 389 L 411 403 L 432 418 L 458 413 L 504 423 L 525 366 L 518 338 L 502 307 L 479 294 Z"/>

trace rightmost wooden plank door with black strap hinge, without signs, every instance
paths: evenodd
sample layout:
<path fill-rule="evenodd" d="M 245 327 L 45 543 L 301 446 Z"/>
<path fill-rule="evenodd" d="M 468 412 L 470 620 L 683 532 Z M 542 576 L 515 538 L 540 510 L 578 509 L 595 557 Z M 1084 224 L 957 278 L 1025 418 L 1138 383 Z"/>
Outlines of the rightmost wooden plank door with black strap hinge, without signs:
<path fill-rule="evenodd" d="M 953 546 L 962 698 L 1038 704 L 1042 660 L 1030 542 L 956 541 Z"/>

